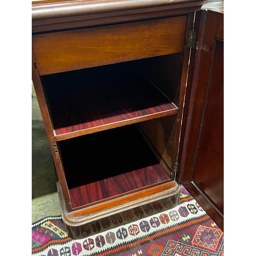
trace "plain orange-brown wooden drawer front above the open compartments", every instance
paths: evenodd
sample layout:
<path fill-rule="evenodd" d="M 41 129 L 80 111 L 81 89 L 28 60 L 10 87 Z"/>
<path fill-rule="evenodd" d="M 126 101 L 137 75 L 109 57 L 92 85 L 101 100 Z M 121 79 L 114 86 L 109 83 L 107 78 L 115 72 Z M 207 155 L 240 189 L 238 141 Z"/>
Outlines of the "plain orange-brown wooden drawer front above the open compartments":
<path fill-rule="evenodd" d="M 40 75 L 182 52 L 186 16 L 35 34 Z"/>

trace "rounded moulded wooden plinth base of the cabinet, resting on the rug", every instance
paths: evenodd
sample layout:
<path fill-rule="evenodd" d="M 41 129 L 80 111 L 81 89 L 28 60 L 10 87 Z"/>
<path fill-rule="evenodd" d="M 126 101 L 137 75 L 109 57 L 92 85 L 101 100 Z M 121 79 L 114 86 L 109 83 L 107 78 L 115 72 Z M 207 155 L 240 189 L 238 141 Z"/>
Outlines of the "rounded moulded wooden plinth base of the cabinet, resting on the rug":
<path fill-rule="evenodd" d="M 122 196 L 119 200 L 109 200 L 80 210 L 67 212 L 61 187 L 57 183 L 62 205 L 62 220 L 70 237 L 80 239 L 126 223 L 130 223 L 158 212 L 175 207 L 180 198 L 180 188 L 175 181 L 154 189 L 143 189 L 135 195 Z M 156 190 L 159 190 L 156 192 Z M 136 195 L 137 194 L 137 195 Z M 139 197 L 138 197 L 139 196 Z"/>

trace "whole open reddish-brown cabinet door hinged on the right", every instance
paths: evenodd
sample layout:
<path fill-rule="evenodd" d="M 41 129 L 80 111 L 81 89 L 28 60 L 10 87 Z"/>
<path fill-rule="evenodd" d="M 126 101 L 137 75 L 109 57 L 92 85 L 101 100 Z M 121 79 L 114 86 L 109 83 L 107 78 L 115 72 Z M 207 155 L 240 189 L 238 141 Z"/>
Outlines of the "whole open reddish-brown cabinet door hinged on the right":
<path fill-rule="evenodd" d="M 201 10 L 196 14 L 195 30 L 179 183 L 223 230 L 223 13 Z"/>

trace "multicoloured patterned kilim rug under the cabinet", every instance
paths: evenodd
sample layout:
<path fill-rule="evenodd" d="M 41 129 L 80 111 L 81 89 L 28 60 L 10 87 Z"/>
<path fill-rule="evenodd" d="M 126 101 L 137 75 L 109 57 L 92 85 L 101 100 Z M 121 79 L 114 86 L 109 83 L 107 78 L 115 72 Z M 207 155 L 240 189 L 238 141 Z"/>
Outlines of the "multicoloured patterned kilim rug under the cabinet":
<path fill-rule="evenodd" d="M 32 224 L 32 255 L 223 256 L 223 236 L 182 187 L 175 208 L 85 239 L 69 238 L 61 217 L 42 219 Z"/>

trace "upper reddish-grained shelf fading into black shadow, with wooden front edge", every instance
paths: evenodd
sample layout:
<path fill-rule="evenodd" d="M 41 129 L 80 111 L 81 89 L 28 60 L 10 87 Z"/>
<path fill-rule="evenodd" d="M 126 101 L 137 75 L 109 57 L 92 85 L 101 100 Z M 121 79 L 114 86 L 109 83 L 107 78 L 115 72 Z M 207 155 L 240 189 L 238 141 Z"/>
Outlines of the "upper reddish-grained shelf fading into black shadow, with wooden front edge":
<path fill-rule="evenodd" d="M 178 111 L 128 62 L 47 75 L 42 83 L 58 140 Z"/>

